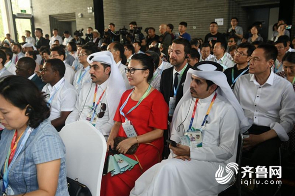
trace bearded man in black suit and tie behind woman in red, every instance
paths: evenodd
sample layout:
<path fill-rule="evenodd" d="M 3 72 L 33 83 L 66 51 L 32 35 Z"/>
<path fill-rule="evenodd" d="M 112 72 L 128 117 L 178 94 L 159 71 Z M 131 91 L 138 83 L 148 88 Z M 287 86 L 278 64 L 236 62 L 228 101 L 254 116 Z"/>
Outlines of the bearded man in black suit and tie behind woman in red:
<path fill-rule="evenodd" d="M 170 53 L 170 63 L 173 67 L 164 70 L 161 75 L 160 92 L 169 105 L 170 116 L 183 95 L 186 73 L 191 67 L 187 63 L 190 49 L 191 45 L 188 40 L 184 38 L 174 40 Z"/>

